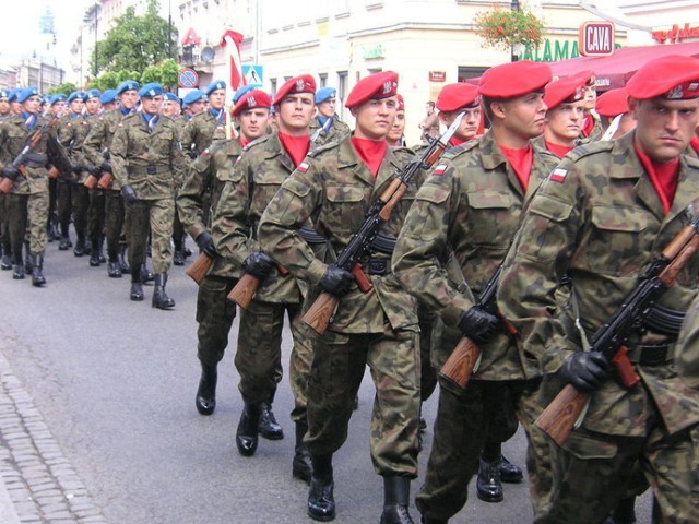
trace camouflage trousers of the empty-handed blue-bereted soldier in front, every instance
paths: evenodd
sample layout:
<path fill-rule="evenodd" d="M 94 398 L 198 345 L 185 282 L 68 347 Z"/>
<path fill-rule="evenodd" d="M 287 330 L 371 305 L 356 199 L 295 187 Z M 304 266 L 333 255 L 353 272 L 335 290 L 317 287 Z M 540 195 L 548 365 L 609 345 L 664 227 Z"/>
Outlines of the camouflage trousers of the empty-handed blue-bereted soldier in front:
<path fill-rule="evenodd" d="M 173 221 L 175 200 L 137 200 L 126 206 L 126 234 L 129 246 L 129 265 L 141 267 L 145 262 L 145 246 L 151 234 L 153 273 L 167 273 L 173 263 Z"/>

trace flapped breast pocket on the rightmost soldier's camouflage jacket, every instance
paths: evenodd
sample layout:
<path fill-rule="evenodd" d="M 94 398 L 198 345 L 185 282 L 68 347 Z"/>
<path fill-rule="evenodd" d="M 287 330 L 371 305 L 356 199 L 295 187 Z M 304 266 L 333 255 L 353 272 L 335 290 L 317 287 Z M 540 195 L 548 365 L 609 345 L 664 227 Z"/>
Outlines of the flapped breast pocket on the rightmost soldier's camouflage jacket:
<path fill-rule="evenodd" d="M 657 227 L 648 212 L 633 207 L 594 206 L 591 227 L 583 234 L 577 259 L 602 274 L 638 273 L 651 250 Z"/>

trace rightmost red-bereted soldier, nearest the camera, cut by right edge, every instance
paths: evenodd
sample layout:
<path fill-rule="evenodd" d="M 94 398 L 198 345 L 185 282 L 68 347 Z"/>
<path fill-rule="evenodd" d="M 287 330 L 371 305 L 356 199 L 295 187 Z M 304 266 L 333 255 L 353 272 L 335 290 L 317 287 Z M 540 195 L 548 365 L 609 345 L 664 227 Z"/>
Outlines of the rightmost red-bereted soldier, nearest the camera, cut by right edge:
<path fill-rule="evenodd" d="M 624 386 L 613 364 L 589 350 L 699 205 L 699 162 L 686 155 L 699 123 L 699 60 L 652 60 L 626 87 L 636 129 L 564 158 L 532 199 L 500 276 L 498 305 L 522 357 L 557 384 L 542 400 L 566 385 L 589 395 L 580 425 L 550 446 L 552 500 L 537 524 L 603 522 L 636 464 L 653 489 L 657 522 L 699 522 L 699 390 L 690 385 L 699 372 L 685 359 L 696 348 L 677 345 L 680 322 L 656 322 L 659 308 L 662 318 L 682 319 L 690 307 L 699 255 L 625 336 L 636 385 Z M 564 275 L 574 306 L 555 298 Z M 571 319 L 579 330 L 566 327 Z"/>

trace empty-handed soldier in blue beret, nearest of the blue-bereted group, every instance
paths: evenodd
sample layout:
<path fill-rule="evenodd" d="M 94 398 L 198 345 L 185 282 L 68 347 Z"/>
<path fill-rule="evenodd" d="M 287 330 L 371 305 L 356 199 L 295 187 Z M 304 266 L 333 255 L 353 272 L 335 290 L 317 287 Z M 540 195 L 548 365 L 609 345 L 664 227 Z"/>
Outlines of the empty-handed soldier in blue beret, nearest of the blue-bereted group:
<path fill-rule="evenodd" d="M 141 266 L 151 233 L 155 289 L 151 305 L 158 309 L 175 307 L 165 293 L 167 271 L 173 261 L 170 237 L 175 219 L 174 188 L 181 183 L 187 160 L 175 123 L 161 118 L 161 84 L 144 85 L 139 92 L 141 111 L 120 123 L 111 142 L 114 176 L 121 186 L 126 203 L 125 228 L 131 266 L 131 300 L 143 300 Z"/>

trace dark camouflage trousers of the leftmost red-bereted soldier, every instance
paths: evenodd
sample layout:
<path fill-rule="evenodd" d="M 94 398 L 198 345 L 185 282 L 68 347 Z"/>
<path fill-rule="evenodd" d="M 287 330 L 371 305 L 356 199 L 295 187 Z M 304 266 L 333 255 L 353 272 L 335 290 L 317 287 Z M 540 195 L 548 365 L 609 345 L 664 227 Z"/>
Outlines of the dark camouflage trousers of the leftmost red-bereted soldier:
<path fill-rule="evenodd" d="M 228 333 L 236 317 L 236 305 L 228 294 L 237 278 L 206 275 L 197 294 L 197 357 L 208 366 L 217 365 L 228 346 Z"/>

